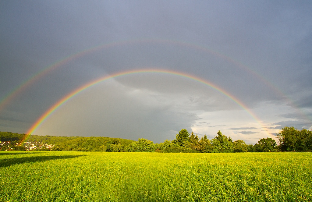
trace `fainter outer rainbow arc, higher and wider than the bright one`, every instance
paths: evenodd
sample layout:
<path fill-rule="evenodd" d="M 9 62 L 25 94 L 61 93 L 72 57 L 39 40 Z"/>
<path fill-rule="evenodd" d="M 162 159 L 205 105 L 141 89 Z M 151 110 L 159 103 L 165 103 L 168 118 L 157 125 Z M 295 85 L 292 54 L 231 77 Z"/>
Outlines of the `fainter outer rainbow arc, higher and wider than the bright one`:
<path fill-rule="evenodd" d="M 70 56 L 67 56 L 52 65 L 42 69 L 41 71 L 37 72 L 36 74 L 32 75 L 29 77 L 27 80 L 25 80 L 22 84 L 14 88 L 10 93 L 8 93 L 6 96 L 0 100 L 0 110 L 7 105 L 15 96 L 17 96 L 20 92 L 22 92 L 24 89 L 26 89 L 28 86 L 31 86 L 34 82 L 38 81 L 41 77 L 45 76 L 52 70 L 55 70 L 62 65 L 66 64 L 67 62 L 70 62 L 76 58 L 82 57 L 83 55 L 86 55 L 91 52 L 95 52 L 104 48 L 110 48 L 110 47 L 116 47 L 116 46 L 121 46 L 121 45 L 127 45 L 127 44 L 137 44 L 137 43 L 165 43 L 165 44 L 172 44 L 172 45 L 178 45 L 178 46 L 184 46 L 184 47 L 190 47 L 193 49 L 197 49 L 203 52 L 206 52 L 208 54 L 212 54 L 216 57 L 222 58 L 225 61 L 235 64 L 237 67 L 244 69 L 245 71 L 249 72 L 252 76 L 256 77 L 259 79 L 261 82 L 265 83 L 267 86 L 269 86 L 271 89 L 273 89 L 275 92 L 277 92 L 280 96 L 285 97 L 285 95 L 277 89 L 271 82 L 267 81 L 265 78 L 263 78 L 261 75 L 256 73 L 255 71 L 251 70 L 249 67 L 246 65 L 243 65 L 241 62 L 238 62 L 231 57 L 228 57 L 222 53 L 219 53 L 217 51 L 213 51 L 210 49 L 207 49 L 205 47 L 201 47 L 198 45 L 186 43 L 186 42 L 179 42 L 179 41 L 171 41 L 171 40 L 166 40 L 166 39 L 137 39 L 137 40 L 127 40 L 127 41 L 121 41 L 121 42 L 112 42 L 108 44 L 102 44 L 99 46 L 93 46 L 90 48 L 87 48 L 83 51 L 76 52 L 74 54 L 71 54 Z"/>

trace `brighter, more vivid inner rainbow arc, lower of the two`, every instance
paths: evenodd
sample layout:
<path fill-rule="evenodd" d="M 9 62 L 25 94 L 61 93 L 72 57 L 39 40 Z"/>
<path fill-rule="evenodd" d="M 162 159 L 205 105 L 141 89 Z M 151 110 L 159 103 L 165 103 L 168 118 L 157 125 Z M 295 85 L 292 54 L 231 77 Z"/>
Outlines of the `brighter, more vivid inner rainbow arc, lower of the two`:
<path fill-rule="evenodd" d="M 196 76 L 192 76 L 192 75 L 188 75 L 185 74 L 183 72 L 178 72 L 178 71 L 170 71 L 170 70 L 163 70 L 163 69 L 140 69 L 140 70 L 132 70 L 132 71 L 123 71 L 123 72 L 119 72 L 119 73 L 115 73 L 113 75 L 109 75 L 109 76 L 104 76 L 101 77 L 99 79 L 96 79 L 94 81 L 91 81 L 89 83 L 86 83 L 83 86 L 80 86 L 79 88 L 77 88 L 76 90 L 72 91 L 71 93 L 69 93 L 68 95 L 64 96 L 61 100 L 59 100 L 58 102 L 56 102 L 53 106 L 50 107 L 50 109 L 48 109 L 44 114 L 41 115 L 41 117 L 31 126 L 31 128 L 29 128 L 29 130 L 26 132 L 26 134 L 30 135 L 33 134 L 34 131 L 36 131 L 36 129 L 54 112 L 56 111 L 59 107 L 61 107 L 65 102 L 67 102 L 68 100 L 70 100 L 72 97 L 74 97 L 75 95 L 77 95 L 78 93 L 86 90 L 87 88 L 94 86 L 102 81 L 106 81 L 112 78 L 116 78 L 116 77 L 120 77 L 120 76 L 126 76 L 126 75 L 130 75 L 130 74 L 138 74 L 138 73 L 161 73 L 161 74 L 171 74 L 171 75 L 177 75 L 177 76 L 182 76 L 191 80 L 195 80 L 198 81 L 202 84 L 205 84 L 207 86 L 210 86 L 211 88 L 221 92 L 222 94 L 224 94 L 225 96 L 227 96 L 229 99 L 231 99 L 232 101 L 234 101 L 237 105 L 239 105 L 242 109 L 246 110 L 248 112 L 248 114 L 254 118 L 259 125 L 263 128 L 263 130 L 265 130 L 265 127 L 261 125 L 261 121 L 256 117 L 256 115 L 254 115 L 241 101 L 239 101 L 238 99 L 236 99 L 234 96 L 232 96 L 230 93 L 228 93 L 227 91 L 223 90 L 222 88 L 216 86 L 213 83 L 210 83 L 208 81 L 205 81 L 199 77 Z M 266 131 L 266 130 L 265 130 Z M 269 134 L 268 132 L 266 132 L 269 136 L 272 136 L 271 134 Z M 25 137 L 26 138 L 26 137 Z"/>

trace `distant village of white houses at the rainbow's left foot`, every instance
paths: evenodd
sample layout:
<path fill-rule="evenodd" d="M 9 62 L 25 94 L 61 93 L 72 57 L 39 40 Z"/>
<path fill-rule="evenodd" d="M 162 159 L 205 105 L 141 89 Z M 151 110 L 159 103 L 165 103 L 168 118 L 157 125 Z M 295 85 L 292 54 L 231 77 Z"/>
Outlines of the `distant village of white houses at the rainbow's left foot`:
<path fill-rule="evenodd" d="M 11 151 L 11 150 L 17 150 L 16 148 L 24 147 L 26 151 L 32 151 L 32 150 L 52 150 L 52 148 L 55 145 L 51 144 L 44 144 L 43 142 L 24 142 L 22 143 L 12 143 L 10 141 L 4 141 L 0 144 L 0 151 Z M 21 149 L 18 149 L 21 150 Z"/>

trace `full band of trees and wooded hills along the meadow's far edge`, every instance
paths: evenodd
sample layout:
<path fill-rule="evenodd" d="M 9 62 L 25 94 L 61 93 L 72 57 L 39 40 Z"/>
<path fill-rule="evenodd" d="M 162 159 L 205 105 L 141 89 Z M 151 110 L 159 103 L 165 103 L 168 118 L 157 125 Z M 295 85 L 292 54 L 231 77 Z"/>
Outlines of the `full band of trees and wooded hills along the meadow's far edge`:
<path fill-rule="evenodd" d="M 11 141 L 11 150 L 22 150 L 21 141 L 26 134 L 0 132 L 0 141 Z M 259 139 L 255 145 L 244 140 L 233 141 L 221 131 L 209 140 L 207 135 L 201 138 L 186 129 L 176 134 L 172 141 L 165 140 L 154 144 L 153 141 L 139 138 L 138 141 L 110 137 L 65 137 L 30 135 L 27 141 L 54 144 L 54 151 L 130 151 L 130 152 L 188 152 L 188 153 L 231 153 L 231 152 L 276 152 L 276 151 L 312 151 L 312 131 L 294 127 L 283 127 L 276 134 L 279 145 L 272 138 Z M 13 145 L 19 143 L 19 145 Z M 0 146 L 1 147 L 1 146 Z M 9 148 L 9 147 L 7 147 Z"/>

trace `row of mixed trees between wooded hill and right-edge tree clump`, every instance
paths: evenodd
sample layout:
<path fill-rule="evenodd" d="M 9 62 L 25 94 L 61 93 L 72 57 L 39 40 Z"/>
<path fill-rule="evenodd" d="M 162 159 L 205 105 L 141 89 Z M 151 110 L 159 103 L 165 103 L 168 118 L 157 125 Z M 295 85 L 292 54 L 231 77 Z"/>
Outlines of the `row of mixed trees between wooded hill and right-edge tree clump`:
<path fill-rule="evenodd" d="M 140 138 L 125 147 L 126 151 L 140 152 L 194 152 L 194 153 L 231 153 L 231 152 L 269 152 L 279 151 L 275 140 L 263 138 L 255 145 L 247 145 L 244 140 L 233 141 L 231 137 L 223 135 L 221 131 L 209 140 L 207 135 L 201 138 L 186 129 L 182 129 L 172 141 L 154 144 L 152 141 Z"/>

